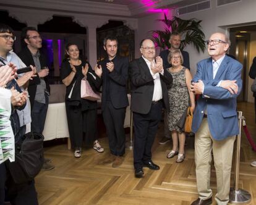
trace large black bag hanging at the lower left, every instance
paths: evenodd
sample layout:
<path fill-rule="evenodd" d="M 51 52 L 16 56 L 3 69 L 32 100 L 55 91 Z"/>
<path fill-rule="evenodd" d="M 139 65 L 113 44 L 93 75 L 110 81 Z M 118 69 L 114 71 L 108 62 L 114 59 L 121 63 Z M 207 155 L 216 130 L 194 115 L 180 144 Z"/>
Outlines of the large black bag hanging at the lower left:
<path fill-rule="evenodd" d="M 26 183 L 40 172 L 45 161 L 43 154 L 44 136 L 39 133 L 27 133 L 21 143 L 15 143 L 15 161 L 7 166 L 17 184 Z"/>

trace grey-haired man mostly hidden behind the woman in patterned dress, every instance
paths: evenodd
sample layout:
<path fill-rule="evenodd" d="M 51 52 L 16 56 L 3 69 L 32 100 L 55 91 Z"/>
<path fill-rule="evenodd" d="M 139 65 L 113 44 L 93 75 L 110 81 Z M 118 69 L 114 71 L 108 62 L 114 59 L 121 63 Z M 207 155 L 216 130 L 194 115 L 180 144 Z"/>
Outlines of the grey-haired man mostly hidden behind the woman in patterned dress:
<path fill-rule="evenodd" d="M 169 52 L 179 49 L 181 47 L 181 34 L 177 32 L 173 32 L 170 35 L 169 38 L 169 43 L 171 47 L 169 49 L 163 50 L 160 52 L 159 56 L 163 59 L 163 67 L 164 69 L 168 69 L 171 67 L 171 63 L 168 62 L 168 55 Z M 187 51 L 181 51 L 181 54 L 183 56 L 183 64 L 184 67 L 190 70 L 190 65 L 189 65 L 189 53 Z M 171 135 L 170 131 L 168 128 L 168 112 L 165 110 L 164 111 L 164 136 L 163 138 L 159 141 L 159 144 L 166 144 L 168 141 L 171 140 Z"/>

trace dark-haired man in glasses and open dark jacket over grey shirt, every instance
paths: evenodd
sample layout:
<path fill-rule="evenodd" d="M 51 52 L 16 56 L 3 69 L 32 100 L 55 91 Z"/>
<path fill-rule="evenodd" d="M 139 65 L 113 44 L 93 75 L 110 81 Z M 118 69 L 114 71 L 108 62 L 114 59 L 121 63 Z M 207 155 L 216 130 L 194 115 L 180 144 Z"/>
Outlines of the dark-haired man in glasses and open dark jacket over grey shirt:
<path fill-rule="evenodd" d="M 40 52 L 42 39 L 36 28 L 23 28 L 21 38 L 26 46 L 20 51 L 19 57 L 26 65 L 35 66 L 38 73 L 33 80 L 30 80 L 28 85 L 32 117 L 31 128 L 33 132 L 42 134 L 49 103 L 49 84 L 47 78 L 49 69 L 47 68 L 45 55 Z M 54 168 L 54 165 L 49 164 L 49 162 L 51 162 L 50 159 L 45 159 L 43 170 Z"/>

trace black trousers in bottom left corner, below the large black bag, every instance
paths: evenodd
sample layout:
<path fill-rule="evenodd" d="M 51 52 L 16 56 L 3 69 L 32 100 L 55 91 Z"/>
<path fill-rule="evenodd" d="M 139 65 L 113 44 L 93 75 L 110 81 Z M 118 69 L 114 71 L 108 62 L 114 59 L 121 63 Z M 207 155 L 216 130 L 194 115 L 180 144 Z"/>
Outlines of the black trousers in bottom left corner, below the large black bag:
<path fill-rule="evenodd" d="M 38 205 L 35 181 L 15 183 L 6 163 L 0 164 L 0 205 L 4 204 L 5 198 L 15 205 Z"/>

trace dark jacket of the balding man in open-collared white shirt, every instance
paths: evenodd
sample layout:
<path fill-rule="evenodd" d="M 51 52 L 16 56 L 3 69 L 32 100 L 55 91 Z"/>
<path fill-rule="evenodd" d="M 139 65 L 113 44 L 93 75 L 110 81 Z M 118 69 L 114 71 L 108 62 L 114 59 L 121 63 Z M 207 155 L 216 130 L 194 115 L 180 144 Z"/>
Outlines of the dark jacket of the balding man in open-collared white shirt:
<path fill-rule="evenodd" d="M 130 79 L 132 82 L 132 100 L 131 109 L 133 112 L 140 114 L 148 114 L 151 108 L 153 92 L 154 92 L 154 79 L 148 69 L 147 63 L 142 57 L 130 62 Z M 164 70 L 164 74 L 160 74 L 161 87 L 163 93 L 163 105 L 169 110 L 169 99 L 167 87 L 173 83 L 172 75 Z"/>

